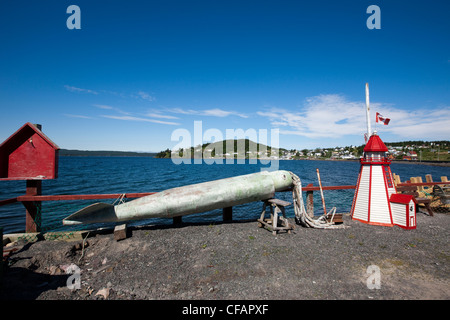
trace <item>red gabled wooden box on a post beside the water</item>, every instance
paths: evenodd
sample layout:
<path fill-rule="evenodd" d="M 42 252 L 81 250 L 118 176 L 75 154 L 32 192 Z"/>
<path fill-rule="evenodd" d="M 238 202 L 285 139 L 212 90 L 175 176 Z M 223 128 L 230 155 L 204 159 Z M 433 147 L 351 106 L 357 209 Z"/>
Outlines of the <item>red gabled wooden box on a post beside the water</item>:
<path fill-rule="evenodd" d="M 40 125 L 27 122 L 0 145 L 0 180 L 56 179 L 58 151 Z"/>

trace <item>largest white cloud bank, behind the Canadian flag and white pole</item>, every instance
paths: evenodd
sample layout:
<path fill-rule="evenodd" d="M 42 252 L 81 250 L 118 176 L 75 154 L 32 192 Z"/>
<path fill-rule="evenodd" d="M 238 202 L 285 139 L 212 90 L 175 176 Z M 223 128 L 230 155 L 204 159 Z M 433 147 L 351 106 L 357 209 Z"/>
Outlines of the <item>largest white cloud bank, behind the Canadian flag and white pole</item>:
<path fill-rule="evenodd" d="M 402 139 L 433 140 L 450 136 L 450 107 L 407 111 L 390 104 L 371 103 L 370 109 L 372 130 L 377 128 Z M 390 118 L 389 125 L 375 126 L 376 112 Z M 281 134 L 340 138 L 367 131 L 365 102 L 349 101 L 336 94 L 308 98 L 297 110 L 272 108 L 257 114 L 269 118 Z"/>

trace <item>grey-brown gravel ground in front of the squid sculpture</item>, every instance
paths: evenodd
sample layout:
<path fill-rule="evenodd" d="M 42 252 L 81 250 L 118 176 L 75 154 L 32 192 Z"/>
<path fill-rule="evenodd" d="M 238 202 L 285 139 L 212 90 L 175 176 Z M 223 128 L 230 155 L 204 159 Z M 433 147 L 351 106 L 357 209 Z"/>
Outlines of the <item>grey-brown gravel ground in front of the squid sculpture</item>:
<path fill-rule="evenodd" d="M 16 243 L 1 299 L 38 300 L 354 300 L 450 298 L 450 217 L 418 213 L 416 230 L 369 226 L 344 216 L 345 229 L 296 226 L 274 236 L 255 221 L 146 226 L 81 242 Z M 68 265 L 81 287 L 66 284 Z M 380 270 L 369 289 L 369 266 Z"/>

